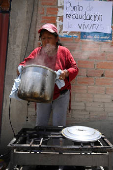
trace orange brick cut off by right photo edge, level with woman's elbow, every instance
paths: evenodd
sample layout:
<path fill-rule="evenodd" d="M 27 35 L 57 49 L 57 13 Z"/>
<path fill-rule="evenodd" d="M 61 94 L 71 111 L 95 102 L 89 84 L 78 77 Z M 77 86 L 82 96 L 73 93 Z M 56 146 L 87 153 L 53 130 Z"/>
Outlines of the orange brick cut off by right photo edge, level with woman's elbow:
<path fill-rule="evenodd" d="M 98 62 L 96 64 L 96 68 L 100 68 L 100 69 L 113 69 L 113 62 L 112 61 Z"/>

